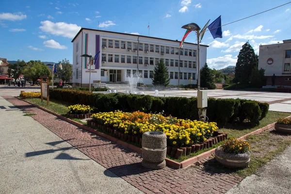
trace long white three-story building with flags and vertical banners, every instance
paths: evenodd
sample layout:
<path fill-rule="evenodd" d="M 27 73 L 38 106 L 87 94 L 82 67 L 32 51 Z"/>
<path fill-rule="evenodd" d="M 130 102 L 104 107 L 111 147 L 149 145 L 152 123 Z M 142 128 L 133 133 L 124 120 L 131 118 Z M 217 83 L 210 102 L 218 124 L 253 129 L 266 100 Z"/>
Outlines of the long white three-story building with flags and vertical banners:
<path fill-rule="evenodd" d="M 193 84 L 197 80 L 197 45 L 149 36 L 81 28 L 73 43 L 74 86 L 89 87 L 88 59 L 100 51 L 96 65 L 91 68 L 91 83 L 125 82 L 133 75 L 141 76 L 144 84 L 152 84 L 154 67 L 160 59 L 168 67 L 171 85 Z M 207 47 L 200 45 L 200 67 L 206 63 Z"/>

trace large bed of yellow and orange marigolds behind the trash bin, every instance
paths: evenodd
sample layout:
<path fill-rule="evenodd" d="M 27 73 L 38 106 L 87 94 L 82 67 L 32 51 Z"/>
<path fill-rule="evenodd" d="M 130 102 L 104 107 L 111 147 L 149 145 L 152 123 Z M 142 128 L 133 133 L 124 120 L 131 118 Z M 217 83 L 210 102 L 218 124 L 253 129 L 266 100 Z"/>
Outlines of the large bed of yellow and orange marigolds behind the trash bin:
<path fill-rule="evenodd" d="M 88 121 L 89 126 L 107 130 L 108 133 L 114 133 L 125 141 L 139 145 L 144 132 L 162 131 L 167 136 L 167 153 L 172 157 L 189 155 L 191 152 L 211 147 L 213 144 L 226 139 L 226 134 L 216 132 L 218 127 L 214 122 L 204 123 L 139 111 L 133 113 L 122 111 L 95 113 L 92 118 L 93 120 Z M 213 137 L 213 133 L 218 136 Z"/>

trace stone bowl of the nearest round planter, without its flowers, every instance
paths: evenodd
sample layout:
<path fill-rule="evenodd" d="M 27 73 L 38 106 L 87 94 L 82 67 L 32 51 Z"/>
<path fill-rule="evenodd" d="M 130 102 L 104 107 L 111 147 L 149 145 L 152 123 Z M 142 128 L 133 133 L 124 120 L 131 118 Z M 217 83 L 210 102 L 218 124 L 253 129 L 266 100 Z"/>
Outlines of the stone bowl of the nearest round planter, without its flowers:
<path fill-rule="evenodd" d="M 251 155 L 250 152 L 243 154 L 226 153 L 219 146 L 215 149 L 215 159 L 228 168 L 245 168 L 251 161 Z"/>

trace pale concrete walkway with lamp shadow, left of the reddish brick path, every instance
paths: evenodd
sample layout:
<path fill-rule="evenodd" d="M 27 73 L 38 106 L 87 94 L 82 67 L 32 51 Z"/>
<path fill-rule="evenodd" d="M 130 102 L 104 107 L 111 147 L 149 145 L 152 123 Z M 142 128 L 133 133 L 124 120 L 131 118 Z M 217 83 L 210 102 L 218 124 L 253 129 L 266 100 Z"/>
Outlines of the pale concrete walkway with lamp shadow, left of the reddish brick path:
<path fill-rule="evenodd" d="M 0 106 L 0 194 L 142 193 L 2 97 Z"/>

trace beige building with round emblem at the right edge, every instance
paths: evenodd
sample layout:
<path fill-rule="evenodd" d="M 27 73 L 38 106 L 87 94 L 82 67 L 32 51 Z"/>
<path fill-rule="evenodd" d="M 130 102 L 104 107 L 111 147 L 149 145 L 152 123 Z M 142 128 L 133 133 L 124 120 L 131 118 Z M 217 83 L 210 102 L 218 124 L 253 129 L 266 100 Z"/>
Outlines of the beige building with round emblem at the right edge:
<path fill-rule="evenodd" d="M 259 46 L 259 69 L 265 69 L 267 85 L 272 85 L 275 74 L 276 86 L 291 86 L 291 39 L 281 44 Z"/>

